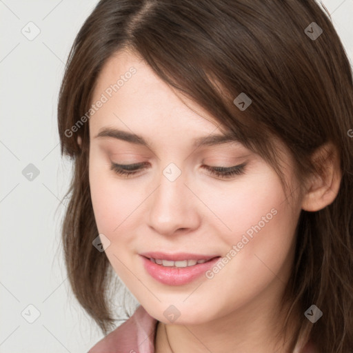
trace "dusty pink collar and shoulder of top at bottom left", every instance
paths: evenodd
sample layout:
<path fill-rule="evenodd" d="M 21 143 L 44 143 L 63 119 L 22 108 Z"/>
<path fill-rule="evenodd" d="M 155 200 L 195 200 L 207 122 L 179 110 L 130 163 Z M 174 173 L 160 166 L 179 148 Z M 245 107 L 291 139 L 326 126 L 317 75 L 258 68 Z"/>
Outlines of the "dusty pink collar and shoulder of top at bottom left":
<path fill-rule="evenodd" d="M 88 353 L 154 353 L 157 319 L 139 305 L 134 314 L 103 337 Z"/>

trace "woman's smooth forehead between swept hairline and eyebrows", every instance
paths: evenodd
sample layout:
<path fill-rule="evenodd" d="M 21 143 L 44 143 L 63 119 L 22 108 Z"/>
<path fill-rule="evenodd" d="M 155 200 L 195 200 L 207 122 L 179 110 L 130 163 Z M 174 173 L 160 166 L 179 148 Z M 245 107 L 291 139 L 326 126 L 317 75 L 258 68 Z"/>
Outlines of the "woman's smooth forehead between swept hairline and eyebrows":
<path fill-rule="evenodd" d="M 91 103 L 98 101 L 104 103 L 90 117 L 93 134 L 106 126 L 135 134 L 222 134 L 219 123 L 206 110 L 171 88 L 129 51 L 115 53 L 103 65 Z"/>

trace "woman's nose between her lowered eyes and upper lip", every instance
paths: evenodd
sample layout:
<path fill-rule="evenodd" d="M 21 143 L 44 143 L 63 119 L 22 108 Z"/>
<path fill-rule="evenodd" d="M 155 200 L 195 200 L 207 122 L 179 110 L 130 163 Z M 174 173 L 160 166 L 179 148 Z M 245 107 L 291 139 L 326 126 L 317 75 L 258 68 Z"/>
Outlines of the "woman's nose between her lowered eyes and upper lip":
<path fill-rule="evenodd" d="M 149 226 L 159 234 L 191 232 L 199 227 L 201 201 L 192 191 L 195 183 L 172 165 L 163 170 L 159 186 L 150 198 Z"/>

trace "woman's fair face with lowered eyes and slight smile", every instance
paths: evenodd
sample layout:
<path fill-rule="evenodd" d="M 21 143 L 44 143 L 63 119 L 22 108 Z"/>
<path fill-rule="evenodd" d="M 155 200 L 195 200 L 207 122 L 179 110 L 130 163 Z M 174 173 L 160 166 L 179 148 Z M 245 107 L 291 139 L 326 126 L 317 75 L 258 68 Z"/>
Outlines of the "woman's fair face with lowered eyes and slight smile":
<path fill-rule="evenodd" d="M 301 211 L 292 160 L 283 154 L 291 185 L 286 198 L 270 165 L 241 143 L 196 146 L 196 140 L 221 134 L 219 124 L 179 97 L 128 52 L 112 57 L 99 76 L 92 99 L 97 111 L 89 121 L 89 175 L 105 254 L 139 303 L 165 323 L 205 323 L 279 303 Z M 97 137 L 107 128 L 139 135 L 145 144 L 112 132 Z M 125 177 L 112 163 L 141 166 Z M 208 169 L 235 165 L 243 169 L 230 177 Z M 152 263 L 148 252 L 180 262 Z"/>

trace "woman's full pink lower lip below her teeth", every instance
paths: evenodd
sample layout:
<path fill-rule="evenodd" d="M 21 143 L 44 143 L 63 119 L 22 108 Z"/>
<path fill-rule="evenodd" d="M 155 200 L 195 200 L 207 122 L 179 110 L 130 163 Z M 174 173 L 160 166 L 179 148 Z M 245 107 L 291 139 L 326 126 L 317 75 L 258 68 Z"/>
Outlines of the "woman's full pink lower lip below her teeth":
<path fill-rule="evenodd" d="M 194 266 L 186 268 L 177 268 L 174 266 L 162 266 L 157 263 L 153 263 L 150 259 L 145 256 L 141 256 L 143 260 L 143 266 L 145 270 L 157 281 L 166 285 L 183 285 L 194 281 L 206 271 L 210 270 L 212 266 L 221 258 L 216 257 L 205 263 L 197 263 Z"/>

